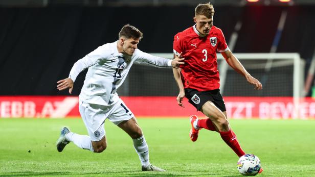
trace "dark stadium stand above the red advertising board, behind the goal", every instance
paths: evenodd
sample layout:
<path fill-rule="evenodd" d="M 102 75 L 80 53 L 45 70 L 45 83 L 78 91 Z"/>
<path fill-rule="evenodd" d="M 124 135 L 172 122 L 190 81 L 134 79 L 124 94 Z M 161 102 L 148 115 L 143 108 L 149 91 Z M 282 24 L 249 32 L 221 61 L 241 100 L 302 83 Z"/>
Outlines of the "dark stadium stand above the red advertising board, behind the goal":
<path fill-rule="evenodd" d="M 171 6 L 133 7 L 132 15 L 127 15 L 117 12 L 128 11 L 129 7 L 1 7 L 0 75 L 2 83 L 9 84 L 1 84 L 0 94 L 68 94 L 58 92 L 56 81 L 67 77 L 78 59 L 106 42 L 117 40 L 119 30 L 126 23 L 144 33 L 139 44 L 144 52 L 172 53 L 173 36 L 194 24 L 193 8 L 179 6 L 174 12 Z M 314 9 L 315 6 L 218 6 L 214 25 L 222 29 L 229 42 L 235 24 L 241 20 L 234 53 L 268 53 L 278 25 L 278 20 L 274 19 L 279 19 L 282 10 L 287 10 L 277 52 L 297 52 L 310 60 L 315 47 Z M 177 94 L 170 69 L 134 65 L 130 72 L 129 82 L 125 84 L 131 90 L 121 88 L 121 95 Z M 154 78 L 142 78 L 150 72 L 154 72 Z M 83 80 L 81 73 L 74 95 L 79 94 Z M 159 87 L 156 80 L 166 86 Z M 144 81 L 146 85 L 141 85 Z"/>

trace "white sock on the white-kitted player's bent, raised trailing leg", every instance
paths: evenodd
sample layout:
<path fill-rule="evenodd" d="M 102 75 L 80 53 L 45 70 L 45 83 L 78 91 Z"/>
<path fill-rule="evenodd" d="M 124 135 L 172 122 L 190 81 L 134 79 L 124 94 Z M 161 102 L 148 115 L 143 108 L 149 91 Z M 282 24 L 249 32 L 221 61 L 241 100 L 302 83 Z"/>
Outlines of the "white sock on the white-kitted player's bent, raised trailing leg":
<path fill-rule="evenodd" d="M 72 141 L 75 145 L 82 149 L 88 149 L 94 152 L 91 138 L 87 135 L 79 135 L 73 132 L 69 132 L 65 135 L 65 139 Z"/>

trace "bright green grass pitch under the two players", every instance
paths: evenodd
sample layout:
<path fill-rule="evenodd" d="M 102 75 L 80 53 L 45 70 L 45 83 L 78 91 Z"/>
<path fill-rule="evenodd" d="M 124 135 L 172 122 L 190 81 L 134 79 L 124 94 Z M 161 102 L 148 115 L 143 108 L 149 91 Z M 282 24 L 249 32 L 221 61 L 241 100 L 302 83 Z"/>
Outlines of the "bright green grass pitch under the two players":
<path fill-rule="evenodd" d="M 143 172 L 132 140 L 106 120 L 107 149 L 91 153 L 55 142 L 67 125 L 86 134 L 81 119 L 0 119 L 0 176 L 241 176 L 238 157 L 216 132 L 189 139 L 189 119 L 138 119 L 150 162 L 167 172 Z M 257 155 L 257 176 L 315 176 L 315 120 L 230 120 L 241 146 Z"/>

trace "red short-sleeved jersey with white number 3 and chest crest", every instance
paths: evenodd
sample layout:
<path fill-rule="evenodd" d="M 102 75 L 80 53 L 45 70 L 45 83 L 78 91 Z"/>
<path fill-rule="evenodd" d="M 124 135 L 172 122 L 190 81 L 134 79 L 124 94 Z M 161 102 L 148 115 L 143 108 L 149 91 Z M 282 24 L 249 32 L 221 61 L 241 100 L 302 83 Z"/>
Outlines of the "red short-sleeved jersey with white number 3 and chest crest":
<path fill-rule="evenodd" d="M 216 52 L 229 49 L 222 31 L 212 26 L 208 35 L 200 34 L 190 27 L 174 36 L 174 54 L 182 53 L 185 64 L 180 65 L 184 88 L 198 91 L 215 90 L 220 87 Z"/>

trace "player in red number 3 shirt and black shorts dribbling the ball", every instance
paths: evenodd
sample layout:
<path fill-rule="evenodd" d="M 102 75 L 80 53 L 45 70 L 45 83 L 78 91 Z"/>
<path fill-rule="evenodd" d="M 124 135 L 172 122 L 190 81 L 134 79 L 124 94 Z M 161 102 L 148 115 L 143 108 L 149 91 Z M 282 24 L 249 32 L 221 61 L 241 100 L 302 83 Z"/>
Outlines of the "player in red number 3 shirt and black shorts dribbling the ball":
<path fill-rule="evenodd" d="M 261 83 L 248 73 L 229 49 L 222 31 L 213 26 L 214 9 L 211 4 L 199 4 L 195 8 L 193 27 L 174 36 L 174 57 L 182 56 L 185 64 L 173 68 L 174 78 L 179 87 L 177 103 L 183 106 L 186 96 L 189 103 L 204 113 L 207 119 L 190 117 L 190 139 L 196 141 L 199 130 L 216 131 L 237 154 L 245 155 L 227 118 L 226 107 L 220 94 L 220 79 L 216 52 L 220 52 L 228 64 L 242 74 L 247 82 L 262 89 Z M 261 172 L 261 171 L 260 171 Z"/>

